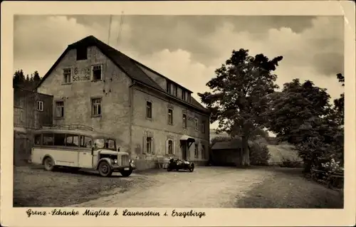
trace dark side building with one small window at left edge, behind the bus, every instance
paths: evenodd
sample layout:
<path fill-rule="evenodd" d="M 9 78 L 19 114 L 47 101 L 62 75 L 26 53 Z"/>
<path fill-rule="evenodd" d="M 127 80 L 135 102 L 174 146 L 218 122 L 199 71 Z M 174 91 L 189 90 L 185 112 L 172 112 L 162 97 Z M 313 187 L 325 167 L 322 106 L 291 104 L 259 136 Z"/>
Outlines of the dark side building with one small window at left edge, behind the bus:
<path fill-rule="evenodd" d="M 14 164 L 31 158 L 32 132 L 53 120 L 53 96 L 14 88 Z"/>

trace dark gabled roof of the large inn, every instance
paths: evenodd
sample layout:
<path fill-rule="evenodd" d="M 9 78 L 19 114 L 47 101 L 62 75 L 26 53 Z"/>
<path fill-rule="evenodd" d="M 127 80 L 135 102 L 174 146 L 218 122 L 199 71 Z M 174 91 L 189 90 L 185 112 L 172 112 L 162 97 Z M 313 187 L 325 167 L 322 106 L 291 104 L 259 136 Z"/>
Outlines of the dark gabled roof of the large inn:
<path fill-rule="evenodd" d="M 170 95 L 169 93 L 167 93 L 166 90 L 164 90 L 161 86 L 159 86 L 155 82 L 155 80 L 152 80 L 152 78 L 150 78 L 150 76 L 148 76 L 143 70 L 141 70 L 141 68 L 138 65 L 141 65 L 141 66 L 147 68 L 148 70 L 151 70 L 152 72 L 157 73 L 157 72 L 155 72 L 155 70 L 152 70 L 152 69 L 148 68 L 147 66 L 143 65 L 142 63 L 139 63 L 136 60 L 133 60 L 132 58 L 126 56 L 125 54 L 121 53 L 120 51 L 117 51 L 115 48 L 108 46 L 108 44 L 103 43 L 102 41 L 100 41 L 98 38 L 95 38 L 94 36 L 87 36 L 87 37 L 81 39 L 80 41 L 70 44 L 66 48 L 66 51 L 64 51 L 62 53 L 62 55 L 58 58 L 58 60 L 56 60 L 56 63 L 54 63 L 53 66 L 48 70 L 46 75 L 43 76 L 42 80 L 40 81 L 40 83 L 38 83 L 36 88 L 38 88 L 41 85 L 41 83 L 43 83 L 43 81 L 46 80 L 48 75 L 51 75 L 52 71 L 61 62 L 62 58 L 64 56 L 66 56 L 68 51 L 73 50 L 78 47 L 88 47 L 88 46 L 96 46 L 97 48 L 99 48 L 100 51 L 112 61 L 112 63 L 117 65 L 117 67 L 120 68 L 120 70 L 122 70 L 124 73 L 126 73 L 126 75 L 129 76 L 135 82 L 138 82 L 142 85 L 146 85 L 150 88 L 153 88 L 161 93 L 164 93 L 165 95 L 167 95 L 169 97 L 174 98 L 175 100 L 177 100 L 179 102 L 184 103 L 185 105 L 195 107 L 197 110 L 201 110 L 206 113 L 209 112 L 197 100 L 195 100 L 194 97 L 191 97 L 192 102 L 189 103 L 189 102 L 184 102 L 183 100 L 180 100 L 179 98 L 175 97 L 174 95 Z M 159 74 L 159 73 L 157 73 L 157 74 Z M 159 74 L 159 75 L 161 75 L 161 74 Z M 163 75 L 161 75 L 161 76 L 163 76 Z M 172 81 L 172 80 L 170 80 L 170 81 Z M 184 88 L 184 89 L 187 89 L 187 88 Z M 190 90 L 188 90 L 188 91 L 190 92 Z"/>

